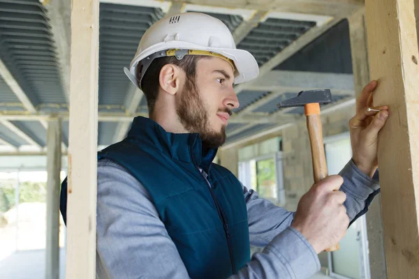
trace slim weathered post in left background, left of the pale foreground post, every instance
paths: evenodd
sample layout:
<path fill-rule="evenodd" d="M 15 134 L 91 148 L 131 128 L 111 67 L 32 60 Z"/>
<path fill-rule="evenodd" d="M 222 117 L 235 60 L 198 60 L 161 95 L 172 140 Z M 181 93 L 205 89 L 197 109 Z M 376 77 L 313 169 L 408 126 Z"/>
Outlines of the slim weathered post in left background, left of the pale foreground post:
<path fill-rule="evenodd" d="M 45 278 L 59 278 L 59 190 L 61 121 L 48 121 L 47 130 L 47 241 Z"/>

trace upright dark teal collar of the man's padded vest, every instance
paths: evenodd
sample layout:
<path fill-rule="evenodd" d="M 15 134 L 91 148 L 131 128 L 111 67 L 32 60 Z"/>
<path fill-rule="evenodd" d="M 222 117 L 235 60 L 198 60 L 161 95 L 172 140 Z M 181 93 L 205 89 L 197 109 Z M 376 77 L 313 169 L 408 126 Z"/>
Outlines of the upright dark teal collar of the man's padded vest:
<path fill-rule="evenodd" d="M 168 133 L 156 121 L 142 116 L 134 118 L 127 137 L 146 140 L 172 159 L 193 162 L 207 173 L 217 151 L 203 146 L 198 133 Z"/>

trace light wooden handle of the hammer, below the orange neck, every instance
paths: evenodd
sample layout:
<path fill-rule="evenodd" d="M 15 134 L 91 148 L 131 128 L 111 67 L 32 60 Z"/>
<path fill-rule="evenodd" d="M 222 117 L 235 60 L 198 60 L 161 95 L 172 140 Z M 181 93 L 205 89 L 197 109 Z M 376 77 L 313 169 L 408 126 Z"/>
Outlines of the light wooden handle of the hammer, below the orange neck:
<path fill-rule="evenodd" d="M 328 165 L 326 164 L 320 114 L 307 115 L 307 129 L 309 130 L 311 158 L 313 160 L 314 183 L 318 183 L 318 181 L 321 181 L 328 176 Z M 339 250 L 339 243 L 325 251 L 329 252 L 336 250 Z"/>

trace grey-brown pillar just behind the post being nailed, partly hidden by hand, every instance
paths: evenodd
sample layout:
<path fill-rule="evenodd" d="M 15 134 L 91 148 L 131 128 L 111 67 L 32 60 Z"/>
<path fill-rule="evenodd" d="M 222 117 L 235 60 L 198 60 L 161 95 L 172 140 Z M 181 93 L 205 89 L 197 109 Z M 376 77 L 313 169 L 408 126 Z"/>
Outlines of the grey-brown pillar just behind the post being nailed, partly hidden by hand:
<path fill-rule="evenodd" d="M 355 83 L 355 96 L 358 98 L 363 87 L 369 82 L 365 9 L 349 17 L 348 22 L 349 34 L 351 36 L 353 82 Z M 387 278 L 387 271 L 385 266 L 380 196 L 374 199 L 374 202 L 369 207 L 366 218 L 371 279 L 385 279 Z"/>

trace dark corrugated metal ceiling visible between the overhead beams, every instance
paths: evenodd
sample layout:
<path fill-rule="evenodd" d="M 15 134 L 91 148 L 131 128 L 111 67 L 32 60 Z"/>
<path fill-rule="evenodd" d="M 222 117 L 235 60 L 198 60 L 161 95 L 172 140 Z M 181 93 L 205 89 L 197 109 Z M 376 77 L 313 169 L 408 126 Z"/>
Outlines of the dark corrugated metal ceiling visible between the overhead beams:
<path fill-rule="evenodd" d="M 199 12 L 199 10 L 196 10 Z M 242 23 L 240 15 L 207 13 L 223 21 L 233 33 Z M 99 35 L 99 110 L 101 112 L 124 112 L 128 79 L 123 68 L 131 62 L 142 34 L 154 22 L 163 17 L 161 8 L 126 6 L 101 3 Z M 259 65 L 271 59 L 303 33 L 314 27 L 315 22 L 267 18 L 237 46 L 251 52 Z M 13 74 L 29 100 L 43 112 L 66 111 L 68 106 L 61 84 L 57 53 L 46 10 L 38 0 L 0 0 L 0 57 Z M 268 96 L 267 91 L 243 91 L 239 94 L 240 112 L 260 98 Z M 279 98 L 288 98 L 288 95 Z M 277 100 L 253 112 L 276 110 Z M 15 93 L 0 78 L 0 110 L 24 110 Z M 147 112 L 147 103 L 142 99 L 139 112 Z M 295 113 L 295 112 L 290 112 Z M 45 128 L 32 121 L 14 121 L 15 126 L 45 145 Z M 230 123 L 228 133 L 247 123 Z M 256 125 L 230 137 L 228 141 L 257 133 L 271 124 Z M 98 144 L 111 144 L 117 123 L 103 122 L 98 126 Z M 10 135 L 8 135 L 10 134 Z M 20 146 L 27 144 L 0 127 L 0 137 Z M 63 121 L 63 141 L 68 144 L 68 121 Z"/>

